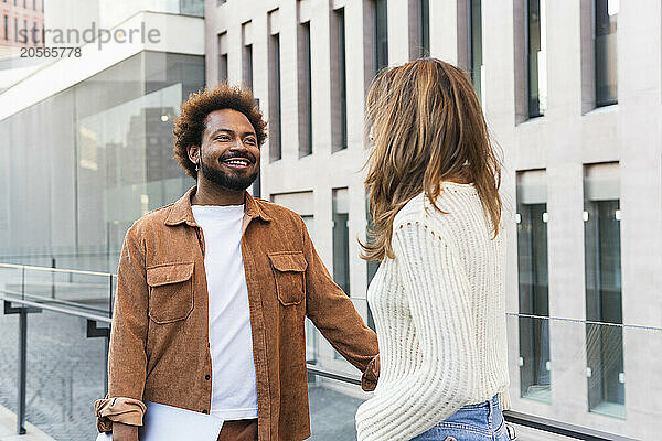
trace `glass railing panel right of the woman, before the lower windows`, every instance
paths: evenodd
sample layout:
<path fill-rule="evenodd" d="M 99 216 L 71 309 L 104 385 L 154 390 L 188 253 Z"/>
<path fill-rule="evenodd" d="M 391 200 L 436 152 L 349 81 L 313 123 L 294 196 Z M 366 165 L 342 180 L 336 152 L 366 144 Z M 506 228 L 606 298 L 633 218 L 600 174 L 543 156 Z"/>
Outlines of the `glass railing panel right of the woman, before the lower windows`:
<path fill-rule="evenodd" d="M 526 314 L 506 323 L 513 411 L 606 439 L 659 438 L 662 327 Z"/>

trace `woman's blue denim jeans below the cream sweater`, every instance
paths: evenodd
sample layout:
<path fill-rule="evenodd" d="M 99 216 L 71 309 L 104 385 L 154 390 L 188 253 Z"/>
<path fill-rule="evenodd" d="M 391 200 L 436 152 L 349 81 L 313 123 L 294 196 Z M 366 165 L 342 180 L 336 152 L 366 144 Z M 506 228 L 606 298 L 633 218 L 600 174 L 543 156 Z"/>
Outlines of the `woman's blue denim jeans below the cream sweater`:
<path fill-rule="evenodd" d="M 510 441 L 499 398 L 462 407 L 412 441 Z"/>

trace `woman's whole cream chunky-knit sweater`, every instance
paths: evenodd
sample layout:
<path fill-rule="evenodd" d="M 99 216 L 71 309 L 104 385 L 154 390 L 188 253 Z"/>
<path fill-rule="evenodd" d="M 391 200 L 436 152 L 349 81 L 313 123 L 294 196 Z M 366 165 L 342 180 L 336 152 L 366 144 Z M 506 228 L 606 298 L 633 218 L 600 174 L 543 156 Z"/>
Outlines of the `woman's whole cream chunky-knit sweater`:
<path fill-rule="evenodd" d="M 448 214 L 421 193 L 397 213 L 395 259 L 367 291 L 381 374 L 356 412 L 359 441 L 410 440 L 496 394 L 510 408 L 504 235 L 492 239 L 471 184 L 445 183 L 437 205 Z"/>

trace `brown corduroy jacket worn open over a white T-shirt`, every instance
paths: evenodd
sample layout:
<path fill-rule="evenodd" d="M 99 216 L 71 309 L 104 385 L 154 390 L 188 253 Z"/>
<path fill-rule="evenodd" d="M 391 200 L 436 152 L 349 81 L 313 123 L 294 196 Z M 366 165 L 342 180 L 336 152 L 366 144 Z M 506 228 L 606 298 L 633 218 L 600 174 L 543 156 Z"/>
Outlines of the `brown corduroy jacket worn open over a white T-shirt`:
<path fill-rule="evenodd" d="M 143 401 L 209 412 L 204 238 L 191 211 L 192 187 L 174 204 L 138 219 L 119 261 L 108 396 L 95 404 L 97 426 L 141 424 Z M 257 374 L 260 441 L 310 435 L 305 318 L 351 364 L 362 387 L 378 375 L 376 335 L 318 256 L 299 215 L 245 193 L 242 255 Z M 222 269 L 220 269 L 222 270 Z"/>

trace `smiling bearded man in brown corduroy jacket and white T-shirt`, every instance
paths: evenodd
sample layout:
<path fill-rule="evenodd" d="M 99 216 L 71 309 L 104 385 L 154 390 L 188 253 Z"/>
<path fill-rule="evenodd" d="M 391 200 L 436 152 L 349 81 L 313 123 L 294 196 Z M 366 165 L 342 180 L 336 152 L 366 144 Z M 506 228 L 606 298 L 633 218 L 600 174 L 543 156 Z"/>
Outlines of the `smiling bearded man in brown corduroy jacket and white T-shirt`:
<path fill-rule="evenodd" d="M 127 232 L 99 431 L 137 440 L 145 401 L 223 420 L 218 440 L 310 435 L 305 318 L 374 389 L 375 334 L 333 282 L 299 215 L 253 198 L 266 122 L 249 92 L 191 95 L 174 157 L 196 180 Z"/>

